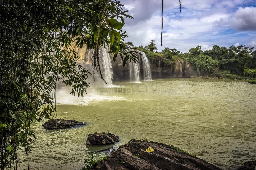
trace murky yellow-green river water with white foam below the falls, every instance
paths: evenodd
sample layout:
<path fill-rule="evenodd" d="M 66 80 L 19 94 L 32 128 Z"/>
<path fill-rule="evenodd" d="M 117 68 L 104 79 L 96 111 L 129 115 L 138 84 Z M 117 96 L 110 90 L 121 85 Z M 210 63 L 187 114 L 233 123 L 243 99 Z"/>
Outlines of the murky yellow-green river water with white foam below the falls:
<path fill-rule="evenodd" d="M 243 80 L 157 79 L 88 91 L 84 98 L 57 94 L 58 118 L 86 122 L 84 127 L 48 131 L 34 125 L 30 169 L 81 169 L 102 146 L 86 146 L 87 135 L 111 132 L 119 147 L 130 139 L 178 146 L 222 169 L 256 159 L 256 85 Z M 26 155 L 18 154 L 19 169 Z"/>

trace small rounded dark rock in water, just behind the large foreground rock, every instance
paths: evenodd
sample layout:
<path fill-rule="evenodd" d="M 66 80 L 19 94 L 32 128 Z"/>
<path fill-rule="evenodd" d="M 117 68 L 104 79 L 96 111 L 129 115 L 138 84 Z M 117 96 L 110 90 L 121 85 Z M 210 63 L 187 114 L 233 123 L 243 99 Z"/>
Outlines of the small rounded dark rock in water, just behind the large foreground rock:
<path fill-rule="evenodd" d="M 87 145 L 108 145 L 119 142 L 119 137 L 111 133 L 89 134 L 86 140 Z"/>

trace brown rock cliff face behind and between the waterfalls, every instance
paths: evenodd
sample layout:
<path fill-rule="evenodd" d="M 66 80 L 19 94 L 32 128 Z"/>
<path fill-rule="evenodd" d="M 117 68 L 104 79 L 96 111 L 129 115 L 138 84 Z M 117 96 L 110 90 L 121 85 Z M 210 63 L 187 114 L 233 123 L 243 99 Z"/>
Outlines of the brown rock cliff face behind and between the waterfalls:
<path fill-rule="evenodd" d="M 76 47 L 74 47 L 75 49 Z M 92 52 L 87 50 L 84 46 L 81 49 L 75 49 L 80 57 L 78 62 L 83 63 L 85 66 L 92 64 L 91 56 Z M 143 63 L 140 54 L 139 57 L 139 70 L 140 70 L 140 80 L 144 79 L 143 75 Z M 113 55 L 112 55 L 113 57 Z M 112 58 L 112 69 L 113 69 L 113 81 L 127 81 L 130 80 L 130 67 L 129 61 L 127 61 L 125 67 L 123 67 L 123 62 L 121 57 L 118 56 L 116 61 Z M 133 62 L 133 61 L 132 61 Z M 152 78 L 199 78 L 200 75 L 197 73 L 196 69 L 189 64 L 187 61 L 178 59 L 167 64 L 166 60 L 162 56 L 154 56 L 154 60 L 149 60 Z"/>

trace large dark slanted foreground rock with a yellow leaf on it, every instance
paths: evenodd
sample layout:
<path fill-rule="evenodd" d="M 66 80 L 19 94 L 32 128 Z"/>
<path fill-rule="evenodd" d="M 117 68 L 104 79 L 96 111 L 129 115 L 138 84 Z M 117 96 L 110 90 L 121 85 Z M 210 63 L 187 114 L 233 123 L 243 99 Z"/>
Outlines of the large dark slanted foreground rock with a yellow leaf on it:
<path fill-rule="evenodd" d="M 173 146 L 132 139 L 124 146 L 120 146 L 116 152 L 111 153 L 107 160 L 97 162 L 93 169 L 219 170 L 220 168 L 197 157 L 178 152 Z"/>

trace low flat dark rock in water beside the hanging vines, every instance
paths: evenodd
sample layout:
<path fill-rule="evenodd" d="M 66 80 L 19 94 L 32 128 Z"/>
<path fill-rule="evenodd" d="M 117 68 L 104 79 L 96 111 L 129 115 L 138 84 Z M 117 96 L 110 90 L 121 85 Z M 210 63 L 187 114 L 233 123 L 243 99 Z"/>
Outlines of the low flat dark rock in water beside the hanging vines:
<path fill-rule="evenodd" d="M 57 127 L 56 127 L 56 125 L 57 125 Z M 71 127 L 79 126 L 79 125 L 86 125 L 86 123 L 78 122 L 75 120 L 51 119 L 51 120 L 45 122 L 44 124 L 42 124 L 42 126 L 45 129 L 50 129 L 50 130 L 71 128 Z"/>

